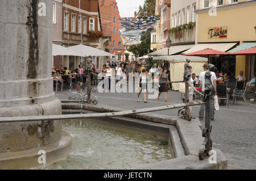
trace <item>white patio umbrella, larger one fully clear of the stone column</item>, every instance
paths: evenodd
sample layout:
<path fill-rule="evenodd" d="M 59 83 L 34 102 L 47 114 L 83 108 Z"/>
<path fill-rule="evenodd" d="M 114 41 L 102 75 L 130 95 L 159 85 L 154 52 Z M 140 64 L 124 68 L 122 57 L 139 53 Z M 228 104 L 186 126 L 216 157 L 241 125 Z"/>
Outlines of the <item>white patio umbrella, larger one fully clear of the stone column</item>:
<path fill-rule="evenodd" d="M 83 54 L 84 56 L 115 56 L 114 54 L 105 52 L 103 50 L 89 47 L 86 45 L 81 45 L 81 44 L 68 47 L 68 49 L 76 50 L 77 52 L 79 52 L 80 54 Z"/>

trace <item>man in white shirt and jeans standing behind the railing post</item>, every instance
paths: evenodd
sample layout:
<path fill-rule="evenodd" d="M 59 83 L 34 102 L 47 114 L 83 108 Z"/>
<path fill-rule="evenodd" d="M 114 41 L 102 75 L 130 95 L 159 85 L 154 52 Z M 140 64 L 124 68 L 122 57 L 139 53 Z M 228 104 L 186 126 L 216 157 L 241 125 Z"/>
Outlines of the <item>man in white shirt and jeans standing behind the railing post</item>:
<path fill-rule="evenodd" d="M 202 91 L 205 90 L 205 72 L 209 69 L 209 65 L 208 64 L 204 64 L 203 66 L 204 71 L 200 73 L 199 76 L 199 86 L 201 88 Z M 213 71 L 210 71 L 210 73 L 212 74 L 212 76 L 210 77 L 213 87 L 214 87 L 214 95 L 217 95 L 217 91 L 216 91 L 216 75 Z M 214 95 L 210 96 L 210 120 L 214 121 Z M 205 104 L 201 105 L 200 111 L 199 111 L 199 120 L 203 120 L 204 119 L 204 110 L 205 110 Z"/>

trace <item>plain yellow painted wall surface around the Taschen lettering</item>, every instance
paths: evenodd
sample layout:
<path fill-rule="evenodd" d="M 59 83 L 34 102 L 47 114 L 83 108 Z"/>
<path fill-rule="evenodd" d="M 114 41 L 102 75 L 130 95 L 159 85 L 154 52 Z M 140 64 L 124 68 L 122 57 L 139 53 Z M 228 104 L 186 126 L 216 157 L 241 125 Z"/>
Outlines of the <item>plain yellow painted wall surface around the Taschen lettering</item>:
<path fill-rule="evenodd" d="M 210 2 L 213 2 L 211 0 Z M 224 5 L 228 0 L 224 0 Z M 245 2 L 247 0 L 239 0 Z M 200 2 L 200 1 L 199 1 Z M 200 5 L 200 3 L 198 4 Z M 209 10 L 206 12 L 198 12 L 197 14 L 197 43 L 212 42 L 236 42 L 240 44 L 243 41 L 256 41 L 256 3 L 252 2 L 244 5 L 235 5 L 233 8 L 217 9 L 216 16 L 210 16 Z M 212 27 L 228 27 L 228 37 L 222 39 L 208 39 L 208 28 Z M 247 74 L 249 69 L 246 66 L 246 56 L 237 56 L 236 58 L 236 76 L 241 70 Z"/>

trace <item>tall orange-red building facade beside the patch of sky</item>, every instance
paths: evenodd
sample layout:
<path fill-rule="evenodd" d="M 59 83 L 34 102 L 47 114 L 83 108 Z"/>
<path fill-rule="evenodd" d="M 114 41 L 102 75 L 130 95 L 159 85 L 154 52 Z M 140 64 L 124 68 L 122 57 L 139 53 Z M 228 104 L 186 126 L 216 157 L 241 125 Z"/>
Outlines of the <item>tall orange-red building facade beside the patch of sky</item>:
<path fill-rule="evenodd" d="M 123 47 L 121 34 L 122 29 L 119 23 L 119 11 L 117 2 L 114 0 L 99 0 L 101 25 L 104 36 L 110 36 L 111 41 L 106 47 L 109 53 L 114 54 L 117 60 L 125 60 L 125 48 Z"/>

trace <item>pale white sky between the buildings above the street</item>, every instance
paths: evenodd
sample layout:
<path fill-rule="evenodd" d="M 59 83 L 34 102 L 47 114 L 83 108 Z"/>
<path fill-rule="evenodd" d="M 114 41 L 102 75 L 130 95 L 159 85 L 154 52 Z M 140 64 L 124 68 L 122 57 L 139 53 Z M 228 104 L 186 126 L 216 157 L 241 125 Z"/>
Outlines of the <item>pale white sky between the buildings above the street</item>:
<path fill-rule="evenodd" d="M 121 18 L 134 17 L 134 11 L 139 10 L 139 6 L 143 6 L 144 0 L 116 0 Z"/>

